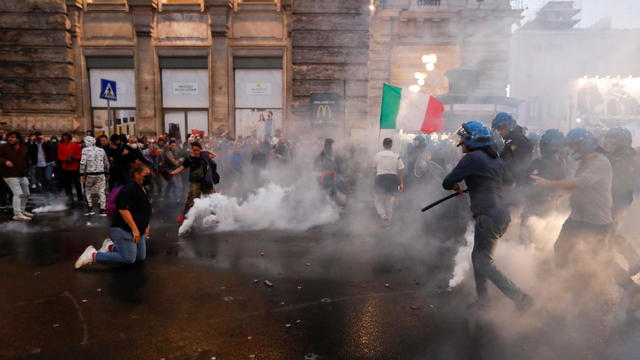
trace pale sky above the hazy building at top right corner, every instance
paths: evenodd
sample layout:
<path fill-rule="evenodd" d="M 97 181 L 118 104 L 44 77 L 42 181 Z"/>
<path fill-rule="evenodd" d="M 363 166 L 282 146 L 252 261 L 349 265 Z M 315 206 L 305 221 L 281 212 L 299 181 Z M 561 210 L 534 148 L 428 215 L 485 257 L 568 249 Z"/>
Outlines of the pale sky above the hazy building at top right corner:
<path fill-rule="evenodd" d="M 548 2 L 548 0 L 524 0 L 529 9 L 525 12 L 527 19 Z M 611 16 L 614 29 L 640 28 L 640 0 L 576 0 L 581 5 L 582 21 L 577 27 L 589 27 L 606 16 Z"/>

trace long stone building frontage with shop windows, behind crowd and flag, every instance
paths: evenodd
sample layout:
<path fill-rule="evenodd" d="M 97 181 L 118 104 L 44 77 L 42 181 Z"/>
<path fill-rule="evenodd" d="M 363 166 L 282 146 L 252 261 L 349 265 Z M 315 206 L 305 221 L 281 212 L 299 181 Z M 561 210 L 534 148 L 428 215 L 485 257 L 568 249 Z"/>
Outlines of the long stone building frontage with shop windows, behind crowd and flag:
<path fill-rule="evenodd" d="M 382 84 L 503 95 L 508 0 L 6 0 L 0 127 L 263 136 L 377 126 Z M 116 101 L 101 98 L 117 83 Z M 272 124 L 271 127 L 265 126 Z"/>

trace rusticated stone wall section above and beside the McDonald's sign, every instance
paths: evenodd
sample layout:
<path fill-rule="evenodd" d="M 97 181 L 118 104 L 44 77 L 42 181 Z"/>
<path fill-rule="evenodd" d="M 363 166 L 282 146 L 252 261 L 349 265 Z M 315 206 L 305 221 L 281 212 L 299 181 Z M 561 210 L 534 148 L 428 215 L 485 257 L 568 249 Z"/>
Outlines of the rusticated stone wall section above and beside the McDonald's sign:
<path fill-rule="evenodd" d="M 293 129 L 310 126 L 313 93 L 344 97 L 344 129 L 367 126 L 369 1 L 296 0 L 292 5 Z"/>

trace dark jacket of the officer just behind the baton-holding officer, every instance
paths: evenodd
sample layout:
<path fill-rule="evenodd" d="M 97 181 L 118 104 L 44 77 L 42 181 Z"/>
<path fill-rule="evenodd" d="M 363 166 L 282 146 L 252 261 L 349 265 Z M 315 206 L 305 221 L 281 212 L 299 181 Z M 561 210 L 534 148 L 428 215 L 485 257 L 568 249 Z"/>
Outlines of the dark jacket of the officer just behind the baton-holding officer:
<path fill-rule="evenodd" d="M 516 126 L 504 139 L 504 149 L 500 157 L 513 175 L 517 185 L 526 182 L 528 170 L 533 159 L 533 145 L 524 135 L 524 129 Z"/>

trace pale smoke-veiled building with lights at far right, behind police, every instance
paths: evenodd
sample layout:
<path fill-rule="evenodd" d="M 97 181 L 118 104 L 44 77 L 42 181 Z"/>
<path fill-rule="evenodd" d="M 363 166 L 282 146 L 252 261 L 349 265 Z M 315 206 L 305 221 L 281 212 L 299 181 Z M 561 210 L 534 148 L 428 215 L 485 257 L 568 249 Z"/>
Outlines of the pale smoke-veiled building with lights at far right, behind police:
<path fill-rule="evenodd" d="M 512 38 L 511 95 L 531 129 L 640 128 L 640 30 L 574 28 L 572 1 L 552 1 Z"/>

